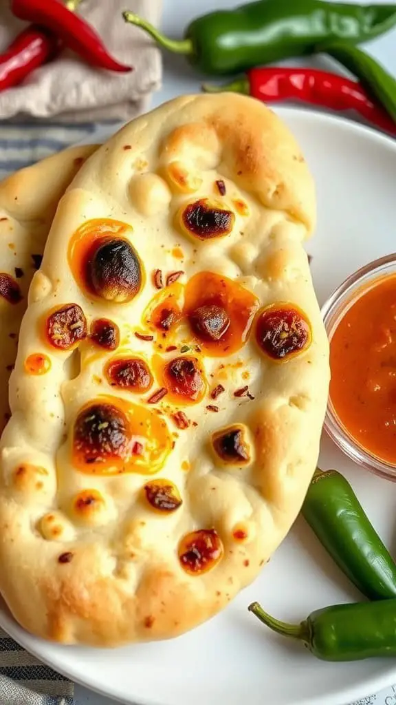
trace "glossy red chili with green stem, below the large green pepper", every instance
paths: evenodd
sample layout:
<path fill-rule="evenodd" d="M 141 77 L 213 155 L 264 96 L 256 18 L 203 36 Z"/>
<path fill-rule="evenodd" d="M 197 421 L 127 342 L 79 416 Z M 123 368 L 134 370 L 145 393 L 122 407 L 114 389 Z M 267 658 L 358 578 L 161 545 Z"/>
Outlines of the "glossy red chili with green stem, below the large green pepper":
<path fill-rule="evenodd" d="M 357 81 L 315 68 L 252 68 L 241 78 L 221 88 L 204 85 L 206 92 L 218 90 L 247 93 L 266 103 L 302 100 L 332 110 L 356 110 L 381 130 L 396 135 L 396 124 Z"/>

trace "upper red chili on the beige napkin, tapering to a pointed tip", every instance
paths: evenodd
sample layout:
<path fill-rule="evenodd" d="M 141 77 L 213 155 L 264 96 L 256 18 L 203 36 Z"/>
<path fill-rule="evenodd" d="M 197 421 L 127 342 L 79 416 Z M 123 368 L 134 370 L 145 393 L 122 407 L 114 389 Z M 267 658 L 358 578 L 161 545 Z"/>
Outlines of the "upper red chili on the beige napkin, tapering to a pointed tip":
<path fill-rule="evenodd" d="M 109 71 L 132 71 L 113 59 L 94 28 L 59 0 L 11 0 L 11 10 L 20 20 L 47 27 L 88 63 Z"/>

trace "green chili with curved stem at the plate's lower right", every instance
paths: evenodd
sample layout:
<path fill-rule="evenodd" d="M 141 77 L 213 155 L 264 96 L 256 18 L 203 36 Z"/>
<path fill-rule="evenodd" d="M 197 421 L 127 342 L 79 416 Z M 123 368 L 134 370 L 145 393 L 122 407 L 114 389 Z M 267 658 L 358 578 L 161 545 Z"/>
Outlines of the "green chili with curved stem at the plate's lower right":
<path fill-rule="evenodd" d="M 396 656 L 396 600 L 325 607 L 298 625 L 274 619 L 258 602 L 248 609 L 277 634 L 303 642 L 323 661 Z"/>

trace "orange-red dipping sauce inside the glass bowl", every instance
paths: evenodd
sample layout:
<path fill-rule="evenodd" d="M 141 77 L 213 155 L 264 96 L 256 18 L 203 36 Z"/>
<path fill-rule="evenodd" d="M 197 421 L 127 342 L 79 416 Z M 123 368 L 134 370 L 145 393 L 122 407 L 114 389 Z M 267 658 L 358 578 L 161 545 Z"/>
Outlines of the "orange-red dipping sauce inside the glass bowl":
<path fill-rule="evenodd" d="M 396 275 L 361 288 L 330 340 L 330 400 L 355 441 L 396 465 Z"/>

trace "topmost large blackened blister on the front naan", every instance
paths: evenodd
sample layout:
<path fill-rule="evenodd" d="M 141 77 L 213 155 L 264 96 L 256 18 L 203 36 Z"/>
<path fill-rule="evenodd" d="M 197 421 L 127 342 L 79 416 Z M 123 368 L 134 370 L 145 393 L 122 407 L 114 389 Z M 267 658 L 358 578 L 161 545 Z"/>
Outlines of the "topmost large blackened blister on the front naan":
<path fill-rule="evenodd" d="M 183 207 L 180 212 L 182 230 L 199 240 L 211 240 L 229 235 L 235 223 L 233 211 L 222 204 L 202 198 Z"/>

